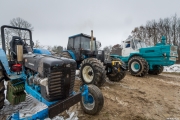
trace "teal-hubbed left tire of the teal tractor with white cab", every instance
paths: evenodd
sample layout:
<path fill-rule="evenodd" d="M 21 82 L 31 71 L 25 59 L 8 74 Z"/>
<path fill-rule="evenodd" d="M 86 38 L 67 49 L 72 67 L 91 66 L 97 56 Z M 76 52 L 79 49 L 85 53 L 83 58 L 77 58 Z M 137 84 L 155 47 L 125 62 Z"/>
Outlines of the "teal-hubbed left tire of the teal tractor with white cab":
<path fill-rule="evenodd" d="M 134 56 L 128 62 L 128 69 L 131 75 L 143 77 L 148 73 L 149 65 L 144 58 Z"/>

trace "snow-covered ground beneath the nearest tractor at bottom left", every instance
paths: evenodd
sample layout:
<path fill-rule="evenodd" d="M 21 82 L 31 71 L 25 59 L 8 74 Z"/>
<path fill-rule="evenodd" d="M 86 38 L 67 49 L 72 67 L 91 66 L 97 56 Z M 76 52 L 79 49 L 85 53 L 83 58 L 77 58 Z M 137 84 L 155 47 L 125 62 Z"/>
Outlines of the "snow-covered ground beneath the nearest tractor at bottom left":
<path fill-rule="evenodd" d="M 7 82 L 5 82 L 5 86 L 7 86 Z M 4 93 L 6 95 L 6 90 Z M 48 106 L 46 106 L 44 103 L 39 102 L 28 94 L 26 95 L 26 100 L 18 105 L 11 105 L 7 100 L 5 100 L 5 106 L 0 110 L 0 120 L 6 119 L 7 116 L 10 116 L 17 111 L 19 111 L 20 118 L 30 117 L 37 112 L 46 109 L 47 107 Z M 66 113 L 69 115 L 69 118 L 56 116 L 53 119 L 46 118 L 45 120 L 78 120 L 78 111 L 66 110 Z"/>

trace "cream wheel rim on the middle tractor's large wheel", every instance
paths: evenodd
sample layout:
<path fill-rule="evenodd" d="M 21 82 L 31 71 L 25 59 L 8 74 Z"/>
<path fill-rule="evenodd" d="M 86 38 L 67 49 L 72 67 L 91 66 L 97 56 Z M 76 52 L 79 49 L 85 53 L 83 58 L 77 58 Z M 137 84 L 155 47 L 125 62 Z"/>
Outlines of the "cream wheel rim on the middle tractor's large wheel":
<path fill-rule="evenodd" d="M 91 66 L 85 66 L 82 70 L 82 76 L 86 83 L 92 82 L 94 78 L 94 72 Z"/>

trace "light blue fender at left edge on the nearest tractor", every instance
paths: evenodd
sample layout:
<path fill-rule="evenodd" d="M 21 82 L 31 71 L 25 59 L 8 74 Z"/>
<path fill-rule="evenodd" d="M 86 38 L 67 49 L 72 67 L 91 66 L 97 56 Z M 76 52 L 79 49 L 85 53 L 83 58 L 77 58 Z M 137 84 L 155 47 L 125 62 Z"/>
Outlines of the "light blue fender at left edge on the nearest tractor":
<path fill-rule="evenodd" d="M 2 63 L 2 66 L 4 67 L 7 75 L 11 75 L 11 72 L 9 70 L 9 63 L 8 63 L 7 56 L 4 52 L 4 50 L 1 48 L 0 48 L 0 62 Z"/>

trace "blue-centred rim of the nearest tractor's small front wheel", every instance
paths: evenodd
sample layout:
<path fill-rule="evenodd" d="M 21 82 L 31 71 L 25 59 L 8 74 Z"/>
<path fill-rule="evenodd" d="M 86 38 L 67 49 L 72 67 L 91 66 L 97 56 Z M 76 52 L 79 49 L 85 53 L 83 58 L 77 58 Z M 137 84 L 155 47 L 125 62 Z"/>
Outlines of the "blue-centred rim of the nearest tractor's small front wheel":
<path fill-rule="evenodd" d="M 82 97 L 82 103 L 83 106 L 87 109 L 87 110 L 92 110 L 95 106 L 95 100 L 94 97 L 91 95 L 91 93 L 89 93 L 88 95 L 88 102 L 85 102 L 84 97 Z"/>

